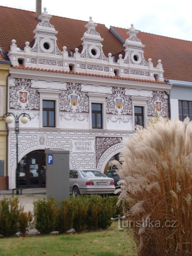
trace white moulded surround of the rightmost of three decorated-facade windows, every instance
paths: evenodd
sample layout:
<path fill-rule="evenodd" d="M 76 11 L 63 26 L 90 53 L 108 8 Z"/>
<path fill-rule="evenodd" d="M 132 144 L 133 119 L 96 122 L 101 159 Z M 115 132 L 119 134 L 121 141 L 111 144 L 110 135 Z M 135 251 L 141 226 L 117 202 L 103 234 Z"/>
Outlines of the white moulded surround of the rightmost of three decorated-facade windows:
<path fill-rule="evenodd" d="M 134 107 L 143 107 L 143 123 L 144 127 L 147 126 L 147 100 L 148 97 L 131 96 L 132 100 L 132 116 L 133 116 L 133 131 L 135 130 L 135 110 Z"/>

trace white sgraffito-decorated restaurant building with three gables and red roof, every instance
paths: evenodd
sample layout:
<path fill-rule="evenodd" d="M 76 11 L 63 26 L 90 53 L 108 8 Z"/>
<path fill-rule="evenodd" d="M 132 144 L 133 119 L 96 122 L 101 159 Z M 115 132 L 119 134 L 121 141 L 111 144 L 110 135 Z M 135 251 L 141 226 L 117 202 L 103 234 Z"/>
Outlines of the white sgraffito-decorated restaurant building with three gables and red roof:
<path fill-rule="evenodd" d="M 171 86 L 164 82 L 161 60 L 156 67 L 145 60 L 138 30 L 132 27 L 122 46 L 91 17 L 88 23 L 51 18 L 44 10 L 38 23 L 34 12 L 0 7 L 1 12 L 2 20 L 10 14 L 0 32 L 12 63 L 8 112 L 31 117 L 20 123 L 18 135 L 20 188 L 45 186 L 45 148 L 69 150 L 70 168 L 104 172 L 136 124 L 168 116 Z M 115 61 L 123 49 L 125 56 Z M 15 142 L 9 124 L 9 188 L 15 188 Z"/>

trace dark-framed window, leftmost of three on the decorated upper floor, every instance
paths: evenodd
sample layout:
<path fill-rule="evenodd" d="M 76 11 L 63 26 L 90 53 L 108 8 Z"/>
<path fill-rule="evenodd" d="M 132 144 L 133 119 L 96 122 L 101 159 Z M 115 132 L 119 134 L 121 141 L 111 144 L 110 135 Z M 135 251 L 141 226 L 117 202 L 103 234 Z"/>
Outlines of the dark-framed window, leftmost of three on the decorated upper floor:
<path fill-rule="evenodd" d="M 54 100 L 43 100 L 43 127 L 55 127 Z"/>

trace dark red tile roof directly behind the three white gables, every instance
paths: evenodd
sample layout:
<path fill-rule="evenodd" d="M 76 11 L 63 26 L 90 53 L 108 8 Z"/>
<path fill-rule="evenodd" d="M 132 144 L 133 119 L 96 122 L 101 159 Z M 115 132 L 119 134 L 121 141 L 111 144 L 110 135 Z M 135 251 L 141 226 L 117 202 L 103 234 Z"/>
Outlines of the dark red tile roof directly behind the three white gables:
<path fill-rule="evenodd" d="M 34 40 L 33 30 L 38 24 L 35 16 L 35 12 L 0 6 L 0 46 L 4 52 L 9 51 L 12 39 L 16 40 L 17 46 L 21 49 L 25 46 L 26 41 Z M 70 53 L 70 50 L 74 50 L 82 44 L 81 37 L 87 31 L 85 28 L 87 22 L 88 20 L 82 21 L 52 16 L 50 23 L 58 31 L 57 45 L 60 51 L 63 51 L 63 46 L 67 46 Z M 104 38 L 103 52 L 106 57 L 108 57 L 109 52 L 115 54 L 124 49 L 105 25 L 98 24 L 96 31 Z"/>

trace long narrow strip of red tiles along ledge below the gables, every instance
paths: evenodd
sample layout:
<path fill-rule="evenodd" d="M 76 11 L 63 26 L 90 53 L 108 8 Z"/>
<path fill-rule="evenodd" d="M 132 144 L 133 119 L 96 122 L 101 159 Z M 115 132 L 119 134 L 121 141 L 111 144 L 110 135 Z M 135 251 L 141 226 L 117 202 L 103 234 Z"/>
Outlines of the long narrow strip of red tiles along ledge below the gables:
<path fill-rule="evenodd" d="M 119 76 L 107 76 L 107 75 L 99 75 L 99 74 L 91 74 L 91 73 L 83 73 L 83 72 L 73 72 L 73 71 L 64 71 L 64 70 L 55 70 L 55 69 L 47 69 L 47 68 L 33 68 L 33 67 L 25 67 L 24 65 L 12 66 L 11 68 L 15 69 L 23 69 L 23 70 L 34 70 L 34 71 L 43 71 L 43 72 L 52 72 L 52 73 L 62 73 L 62 74 L 70 74 L 70 75 L 79 75 L 79 76 L 96 76 L 110 79 L 118 79 L 118 80 L 129 80 L 129 81 L 137 81 L 137 82 L 145 82 L 152 84 L 167 84 L 166 82 L 160 81 L 152 81 L 146 79 L 137 79 L 137 78 L 129 78 L 129 77 L 119 77 Z"/>

